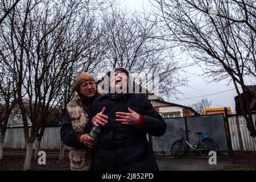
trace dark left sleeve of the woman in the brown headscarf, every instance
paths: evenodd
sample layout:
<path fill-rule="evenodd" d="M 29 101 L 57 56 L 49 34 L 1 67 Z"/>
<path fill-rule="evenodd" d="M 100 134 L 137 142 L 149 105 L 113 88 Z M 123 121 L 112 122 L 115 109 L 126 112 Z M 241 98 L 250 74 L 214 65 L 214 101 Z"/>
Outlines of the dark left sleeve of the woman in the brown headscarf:
<path fill-rule="evenodd" d="M 77 137 L 80 134 L 81 133 L 79 131 L 73 130 L 71 119 L 66 111 L 60 128 L 61 141 L 63 141 L 64 144 L 69 147 L 80 147 L 79 143 L 77 142 Z"/>

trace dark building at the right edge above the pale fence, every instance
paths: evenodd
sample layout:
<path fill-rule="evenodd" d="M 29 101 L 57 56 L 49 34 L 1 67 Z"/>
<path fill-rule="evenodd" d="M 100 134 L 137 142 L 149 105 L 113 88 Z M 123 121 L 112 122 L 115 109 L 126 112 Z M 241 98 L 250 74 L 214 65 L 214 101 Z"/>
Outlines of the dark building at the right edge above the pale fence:
<path fill-rule="evenodd" d="M 249 85 L 247 86 L 248 88 L 250 88 L 251 90 L 254 90 L 254 92 L 256 93 L 256 85 Z M 246 91 L 248 93 L 248 96 L 249 96 L 249 102 L 250 102 L 250 107 L 251 107 L 251 111 L 256 111 L 256 101 L 255 101 L 255 97 L 252 96 L 248 91 Z M 243 93 L 241 93 L 241 96 L 242 96 L 242 100 L 243 100 L 243 105 L 245 106 L 245 99 L 243 98 Z M 240 103 L 240 100 L 239 100 L 239 97 L 236 96 L 234 97 L 234 100 L 236 102 L 236 113 L 239 114 L 239 113 L 242 113 L 241 111 L 241 103 Z M 244 107 L 245 111 L 246 110 L 246 107 Z"/>

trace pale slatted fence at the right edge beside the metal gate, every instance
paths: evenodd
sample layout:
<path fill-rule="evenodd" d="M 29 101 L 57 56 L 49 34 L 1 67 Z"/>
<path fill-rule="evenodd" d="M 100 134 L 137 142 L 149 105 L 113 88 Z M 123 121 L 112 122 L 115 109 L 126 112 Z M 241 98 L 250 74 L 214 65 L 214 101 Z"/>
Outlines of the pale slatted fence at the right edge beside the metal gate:
<path fill-rule="evenodd" d="M 253 114 L 255 127 L 255 114 Z M 242 115 L 228 117 L 230 138 L 233 151 L 256 151 L 256 140 L 250 137 L 246 120 Z"/>

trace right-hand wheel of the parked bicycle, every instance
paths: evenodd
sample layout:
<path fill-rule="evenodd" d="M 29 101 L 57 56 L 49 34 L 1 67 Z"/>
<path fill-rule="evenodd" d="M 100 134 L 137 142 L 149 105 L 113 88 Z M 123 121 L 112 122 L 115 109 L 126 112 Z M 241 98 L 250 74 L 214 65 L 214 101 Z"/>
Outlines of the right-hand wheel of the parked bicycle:
<path fill-rule="evenodd" d="M 207 138 L 200 141 L 198 150 L 201 156 L 209 159 L 210 156 L 212 156 L 209 155 L 210 151 L 216 152 L 217 155 L 218 146 L 217 143 L 215 143 L 212 139 Z"/>

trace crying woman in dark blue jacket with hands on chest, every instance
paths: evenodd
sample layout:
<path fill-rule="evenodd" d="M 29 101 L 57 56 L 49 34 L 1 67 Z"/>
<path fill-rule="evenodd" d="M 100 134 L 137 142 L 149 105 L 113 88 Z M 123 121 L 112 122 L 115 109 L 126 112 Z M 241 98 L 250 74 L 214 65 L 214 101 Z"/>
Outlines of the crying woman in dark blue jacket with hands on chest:
<path fill-rule="evenodd" d="M 125 68 L 110 74 L 110 92 L 93 104 L 86 130 L 100 125 L 93 170 L 158 170 L 146 134 L 160 137 L 166 123 L 141 93 L 128 93 L 132 78 Z M 121 92 L 120 92 L 121 90 Z"/>

